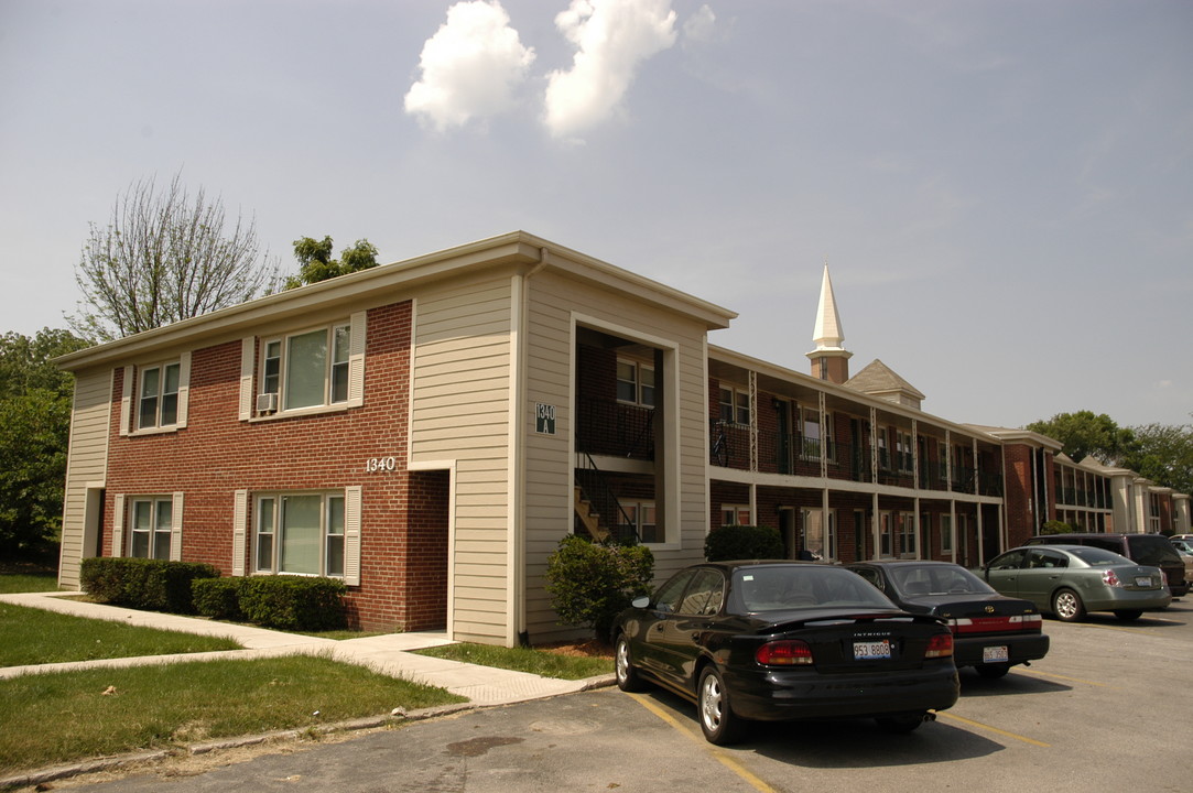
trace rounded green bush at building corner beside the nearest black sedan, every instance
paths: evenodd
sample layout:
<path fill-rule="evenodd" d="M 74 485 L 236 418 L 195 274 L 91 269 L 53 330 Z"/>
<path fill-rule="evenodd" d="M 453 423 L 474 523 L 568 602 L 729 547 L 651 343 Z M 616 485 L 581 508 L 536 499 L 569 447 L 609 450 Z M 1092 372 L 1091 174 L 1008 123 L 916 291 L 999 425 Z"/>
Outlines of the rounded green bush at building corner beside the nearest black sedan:
<path fill-rule="evenodd" d="M 604 638 L 618 612 L 650 594 L 654 570 L 644 545 L 602 545 L 569 534 L 546 562 L 546 591 L 561 622 L 592 627 Z"/>

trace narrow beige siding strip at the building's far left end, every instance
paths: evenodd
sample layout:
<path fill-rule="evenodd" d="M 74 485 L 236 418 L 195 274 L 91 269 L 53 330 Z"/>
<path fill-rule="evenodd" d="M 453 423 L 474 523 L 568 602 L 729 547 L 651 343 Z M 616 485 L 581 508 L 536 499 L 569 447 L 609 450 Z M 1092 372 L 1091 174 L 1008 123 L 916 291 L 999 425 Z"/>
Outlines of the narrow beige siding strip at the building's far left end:
<path fill-rule="evenodd" d="M 62 550 L 58 586 L 79 587 L 79 565 L 84 555 L 87 485 L 103 483 L 107 476 L 107 433 L 112 417 L 112 370 L 79 374 L 75 378 L 70 415 L 66 498 L 62 510 Z"/>

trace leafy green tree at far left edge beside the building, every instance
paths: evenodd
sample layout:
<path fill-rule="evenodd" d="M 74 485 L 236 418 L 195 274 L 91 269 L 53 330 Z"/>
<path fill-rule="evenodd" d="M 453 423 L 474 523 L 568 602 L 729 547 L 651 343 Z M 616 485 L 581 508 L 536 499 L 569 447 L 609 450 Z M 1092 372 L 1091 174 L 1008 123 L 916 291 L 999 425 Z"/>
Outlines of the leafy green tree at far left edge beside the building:
<path fill-rule="evenodd" d="M 0 558 L 52 553 L 62 528 L 73 379 L 51 360 L 89 343 L 49 328 L 0 337 Z"/>

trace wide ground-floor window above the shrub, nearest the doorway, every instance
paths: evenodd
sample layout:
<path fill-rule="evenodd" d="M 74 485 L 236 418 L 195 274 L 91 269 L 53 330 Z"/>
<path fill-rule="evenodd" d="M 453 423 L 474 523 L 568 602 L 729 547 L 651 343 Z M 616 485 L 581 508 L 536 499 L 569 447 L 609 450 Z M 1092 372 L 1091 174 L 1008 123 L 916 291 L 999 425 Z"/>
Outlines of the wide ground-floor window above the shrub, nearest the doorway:
<path fill-rule="evenodd" d="M 344 576 L 345 495 L 265 494 L 256 497 L 258 572 Z"/>

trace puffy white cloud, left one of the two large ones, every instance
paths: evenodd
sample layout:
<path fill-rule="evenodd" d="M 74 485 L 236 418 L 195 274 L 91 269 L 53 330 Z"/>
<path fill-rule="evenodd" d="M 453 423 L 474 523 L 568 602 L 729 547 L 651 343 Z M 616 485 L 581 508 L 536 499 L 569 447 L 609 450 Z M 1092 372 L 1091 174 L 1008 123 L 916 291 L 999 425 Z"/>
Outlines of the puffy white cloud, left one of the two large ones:
<path fill-rule="evenodd" d="M 422 76 L 406 94 L 406 112 L 438 130 L 496 116 L 514 105 L 533 61 L 497 0 L 457 2 L 422 45 Z"/>

